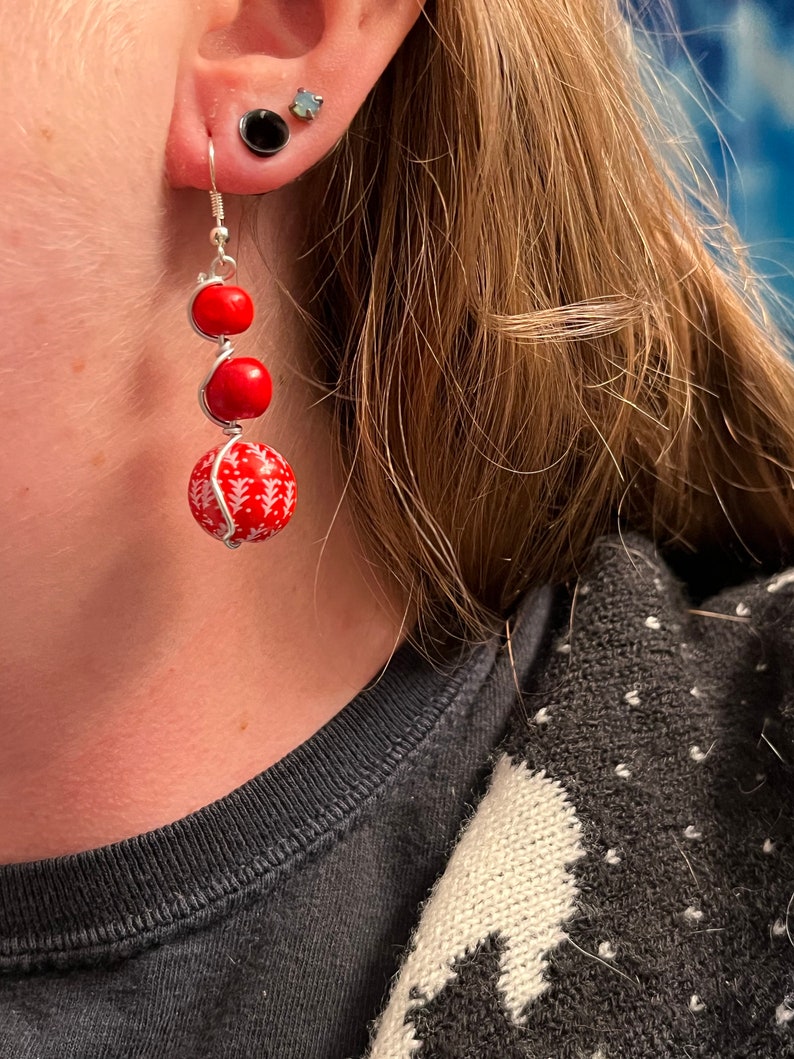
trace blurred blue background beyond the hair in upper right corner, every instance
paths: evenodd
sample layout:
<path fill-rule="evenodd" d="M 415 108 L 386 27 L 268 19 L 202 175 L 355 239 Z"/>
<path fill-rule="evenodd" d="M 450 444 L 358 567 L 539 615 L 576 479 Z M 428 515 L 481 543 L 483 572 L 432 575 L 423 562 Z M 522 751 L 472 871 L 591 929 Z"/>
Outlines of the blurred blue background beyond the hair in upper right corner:
<path fill-rule="evenodd" d="M 663 35 L 667 65 L 757 267 L 794 300 L 794 0 L 671 2 L 690 59 Z M 645 8 L 656 28 L 663 5 Z M 712 92 L 699 86 L 692 60 Z"/>

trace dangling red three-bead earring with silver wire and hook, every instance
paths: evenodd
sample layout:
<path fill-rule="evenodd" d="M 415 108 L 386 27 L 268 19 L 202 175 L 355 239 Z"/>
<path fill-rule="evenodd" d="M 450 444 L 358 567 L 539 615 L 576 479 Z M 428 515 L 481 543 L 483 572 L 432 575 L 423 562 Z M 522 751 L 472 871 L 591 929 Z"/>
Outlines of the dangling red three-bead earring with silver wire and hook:
<path fill-rule="evenodd" d="M 256 419 L 270 403 L 272 382 L 267 367 L 253 357 L 235 357 L 229 335 L 239 335 L 253 321 L 251 297 L 229 286 L 237 263 L 225 252 L 229 229 L 223 201 L 215 186 L 215 147 L 210 140 L 210 199 L 215 228 L 210 241 L 217 254 L 187 304 L 187 319 L 201 338 L 218 343 L 215 363 L 199 387 L 201 411 L 228 435 L 203 455 L 191 474 L 187 499 L 193 517 L 228 548 L 267 540 L 292 517 L 297 487 L 292 468 L 281 453 L 258 442 L 242 442 L 240 419 Z"/>

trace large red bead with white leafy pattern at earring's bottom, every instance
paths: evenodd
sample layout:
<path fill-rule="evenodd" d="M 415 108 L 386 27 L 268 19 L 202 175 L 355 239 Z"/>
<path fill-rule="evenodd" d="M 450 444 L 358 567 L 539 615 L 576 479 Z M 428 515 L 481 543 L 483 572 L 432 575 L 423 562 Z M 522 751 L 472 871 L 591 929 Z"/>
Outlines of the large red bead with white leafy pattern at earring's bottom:
<path fill-rule="evenodd" d="M 224 443 L 225 444 L 225 443 Z M 215 499 L 210 475 L 222 446 L 203 455 L 191 474 L 187 500 L 206 533 L 222 540 L 227 521 Z M 218 485 L 234 520 L 232 541 L 267 540 L 292 518 L 297 486 L 284 456 L 258 442 L 237 442 L 218 468 Z"/>

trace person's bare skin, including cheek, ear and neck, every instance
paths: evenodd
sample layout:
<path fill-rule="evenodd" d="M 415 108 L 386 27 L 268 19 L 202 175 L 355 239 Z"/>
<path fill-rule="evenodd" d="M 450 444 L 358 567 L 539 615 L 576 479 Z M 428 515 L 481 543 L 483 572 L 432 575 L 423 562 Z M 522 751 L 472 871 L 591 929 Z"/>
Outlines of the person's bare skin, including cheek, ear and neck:
<path fill-rule="evenodd" d="M 236 196 L 270 193 L 265 255 L 300 283 L 300 176 L 418 14 L 417 0 L 0 0 L 0 863 L 223 796 L 400 641 L 405 600 L 356 542 L 306 337 L 238 237 Z M 304 85 L 326 98 L 311 125 L 287 111 Z M 263 105 L 292 131 L 266 161 L 236 133 Z M 237 348 L 274 380 L 246 436 L 282 451 L 300 490 L 282 535 L 236 552 L 186 505 L 194 463 L 222 437 L 196 400 L 214 347 L 185 316 L 213 255 L 207 130 L 257 308 Z"/>

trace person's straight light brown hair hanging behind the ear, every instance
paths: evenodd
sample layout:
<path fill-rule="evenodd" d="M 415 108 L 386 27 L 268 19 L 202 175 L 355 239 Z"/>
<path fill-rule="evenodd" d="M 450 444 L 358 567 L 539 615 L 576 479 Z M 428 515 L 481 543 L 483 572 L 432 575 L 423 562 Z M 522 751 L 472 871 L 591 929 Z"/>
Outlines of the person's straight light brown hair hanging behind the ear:
<path fill-rule="evenodd" d="M 431 0 L 311 178 L 302 304 L 426 646 L 616 528 L 791 549 L 784 341 L 650 69 L 616 0 Z"/>

